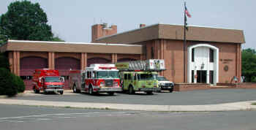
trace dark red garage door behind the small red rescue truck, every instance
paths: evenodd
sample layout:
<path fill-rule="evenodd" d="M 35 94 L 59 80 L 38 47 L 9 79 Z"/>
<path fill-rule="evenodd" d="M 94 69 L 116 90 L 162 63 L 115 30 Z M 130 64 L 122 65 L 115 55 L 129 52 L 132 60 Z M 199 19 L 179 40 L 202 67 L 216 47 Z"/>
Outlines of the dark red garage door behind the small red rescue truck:
<path fill-rule="evenodd" d="M 34 69 L 48 68 L 48 61 L 46 58 L 40 57 L 24 57 L 20 58 L 20 77 L 23 79 L 26 90 L 32 89 L 32 75 Z"/>

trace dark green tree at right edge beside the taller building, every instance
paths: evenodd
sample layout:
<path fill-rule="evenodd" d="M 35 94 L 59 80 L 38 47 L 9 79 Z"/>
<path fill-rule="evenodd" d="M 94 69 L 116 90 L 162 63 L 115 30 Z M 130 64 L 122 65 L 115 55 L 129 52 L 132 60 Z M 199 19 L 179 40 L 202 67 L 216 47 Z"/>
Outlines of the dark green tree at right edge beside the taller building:
<path fill-rule="evenodd" d="M 242 75 L 246 82 L 256 82 L 256 51 L 248 48 L 242 50 Z"/>

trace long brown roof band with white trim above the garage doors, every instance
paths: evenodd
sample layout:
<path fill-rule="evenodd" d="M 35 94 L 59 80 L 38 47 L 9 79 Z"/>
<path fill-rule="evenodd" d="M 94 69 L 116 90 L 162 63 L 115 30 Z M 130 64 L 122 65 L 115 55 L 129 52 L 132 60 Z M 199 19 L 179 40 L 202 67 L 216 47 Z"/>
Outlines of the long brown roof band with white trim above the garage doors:
<path fill-rule="evenodd" d="M 108 43 L 8 40 L 7 44 L 0 47 L 0 51 L 142 54 L 143 47 L 142 45 Z"/>

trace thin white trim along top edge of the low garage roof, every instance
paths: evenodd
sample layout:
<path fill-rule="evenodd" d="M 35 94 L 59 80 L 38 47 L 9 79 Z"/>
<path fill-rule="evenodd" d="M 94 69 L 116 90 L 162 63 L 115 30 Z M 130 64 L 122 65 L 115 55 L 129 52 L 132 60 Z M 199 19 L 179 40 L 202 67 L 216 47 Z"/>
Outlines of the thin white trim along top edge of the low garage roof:
<path fill-rule="evenodd" d="M 141 47 L 142 45 L 128 45 L 128 44 L 113 44 L 113 43 L 86 43 L 86 42 L 51 42 L 51 41 L 28 41 L 28 40 L 13 40 L 8 42 L 28 42 L 28 43 L 50 43 L 50 44 L 77 44 L 77 45 L 116 45 L 116 46 L 130 46 Z"/>

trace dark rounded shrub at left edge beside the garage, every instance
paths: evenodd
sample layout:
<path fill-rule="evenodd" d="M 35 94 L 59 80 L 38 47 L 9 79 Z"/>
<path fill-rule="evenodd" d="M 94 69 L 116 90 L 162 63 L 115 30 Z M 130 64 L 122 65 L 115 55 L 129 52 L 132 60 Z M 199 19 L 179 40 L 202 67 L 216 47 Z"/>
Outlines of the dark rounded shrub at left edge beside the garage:
<path fill-rule="evenodd" d="M 12 73 L 5 68 L 0 68 L 0 95 L 15 96 L 18 88 L 15 85 Z"/>

